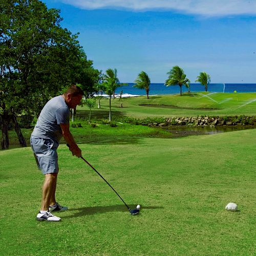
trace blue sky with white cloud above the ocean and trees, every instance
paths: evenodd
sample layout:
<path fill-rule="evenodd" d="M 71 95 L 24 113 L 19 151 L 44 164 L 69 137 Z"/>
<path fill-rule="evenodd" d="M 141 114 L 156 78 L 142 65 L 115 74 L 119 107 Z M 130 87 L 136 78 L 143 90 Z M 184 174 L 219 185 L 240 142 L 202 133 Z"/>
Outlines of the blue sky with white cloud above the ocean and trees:
<path fill-rule="evenodd" d="M 174 66 L 193 83 L 256 83 L 256 0 L 41 0 L 79 32 L 93 67 L 120 82 L 145 71 L 164 83 Z"/>

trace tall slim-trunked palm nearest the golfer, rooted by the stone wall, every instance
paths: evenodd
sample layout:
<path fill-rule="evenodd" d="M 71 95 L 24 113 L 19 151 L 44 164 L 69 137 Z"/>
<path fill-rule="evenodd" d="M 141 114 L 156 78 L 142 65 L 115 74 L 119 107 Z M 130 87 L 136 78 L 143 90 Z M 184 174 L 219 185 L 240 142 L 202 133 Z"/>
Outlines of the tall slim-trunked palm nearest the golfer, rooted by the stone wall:
<path fill-rule="evenodd" d="M 111 96 L 115 93 L 117 87 L 122 86 L 122 84 L 119 83 L 116 69 L 107 69 L 103 80 L 104 92 L 110 97 L 109 121 L 111 121 Z"/>

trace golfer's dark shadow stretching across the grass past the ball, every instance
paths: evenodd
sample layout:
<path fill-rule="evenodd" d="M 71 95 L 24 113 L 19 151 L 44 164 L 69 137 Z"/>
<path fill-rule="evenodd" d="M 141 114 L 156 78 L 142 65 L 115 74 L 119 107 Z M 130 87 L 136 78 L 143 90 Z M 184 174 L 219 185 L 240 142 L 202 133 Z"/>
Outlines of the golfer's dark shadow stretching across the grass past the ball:
<path fill-rule="evenodd" d="M 130 205 L 131 209 L 136 209 L 136 205 Z M 142 210 L 144 209 L 163 209 L 162 206 L 142 206 Z M 85 215 L 94 215 L 94 214 L 104 214 L 105 212 L 114 212 L 114 211 L 128 211 L 128 209 L 124 205 L 109 205 L 109 206 L 93 206 L 93 207 L 81 207 L 81 208 L 74 208 L 69 209 L 70 211 L 78 211 L 74 212 L 74 214 L 69 216 L 63 216 L 61 219 L 69 219 L 69 218 L 76 218 Z"/>

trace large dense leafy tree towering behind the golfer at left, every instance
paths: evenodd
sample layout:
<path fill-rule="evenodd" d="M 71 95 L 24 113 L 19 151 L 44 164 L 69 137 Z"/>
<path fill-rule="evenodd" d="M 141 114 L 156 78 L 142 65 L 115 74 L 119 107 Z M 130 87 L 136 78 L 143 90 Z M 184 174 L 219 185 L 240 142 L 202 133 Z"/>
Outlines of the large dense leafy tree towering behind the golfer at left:
<path fill-rule="evenodd" d="M 78 34 L 60 27 L 59 10 L 48 10 L 38 0 L 1 0 L 0 20 L 0 124 L 4 149 L 9 146 L 11 120 L 20 144 L 25 146 L 16 117 L 38 115 L 51 97 L 85 80 L 93 68 L 79 46 Z"/>

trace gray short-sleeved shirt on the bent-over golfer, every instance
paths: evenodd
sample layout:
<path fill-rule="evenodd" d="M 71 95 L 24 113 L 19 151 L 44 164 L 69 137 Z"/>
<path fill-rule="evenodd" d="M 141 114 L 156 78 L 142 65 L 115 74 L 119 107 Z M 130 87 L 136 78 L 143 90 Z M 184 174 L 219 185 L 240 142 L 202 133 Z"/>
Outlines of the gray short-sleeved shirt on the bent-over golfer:
<path fill-rule="evenodd" d="M 59 142 L 62 137 L 60 123 L 69 123 L 70 111 L 65 99 L 60 95 L 50 99 L 42 109 L 32 136 Z"/>

